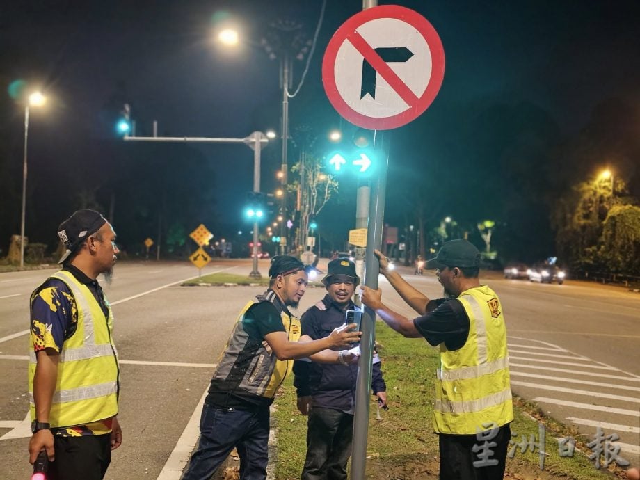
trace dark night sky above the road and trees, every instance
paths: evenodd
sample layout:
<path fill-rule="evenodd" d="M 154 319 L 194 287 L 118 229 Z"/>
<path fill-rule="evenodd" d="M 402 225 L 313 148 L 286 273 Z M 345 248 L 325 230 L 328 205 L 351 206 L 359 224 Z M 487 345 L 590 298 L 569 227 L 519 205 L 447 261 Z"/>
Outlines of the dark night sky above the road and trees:
<path fill-rule="evenodd" d="M 640 137 L 639 2 L 398 3 L 424 15 L 438 31 L 446 68 L 429 109 L 410 125 L 385 133 L 390 145 L 387 223 L 401 229 L 415 223 L 419 198 L 431 227 L 447 214 L 469 225 L 495 218 L 505 232 L 511 230 L 511 256 L 525 257 L 513 247 L 522 242 L 513 234 L 519 229 L 513 218 L 528 216 L 541 225 L 533 229 L 541 239 L 530 241 L 551 250 L 548 198 L 580 175 L 593 175 L 605 163 L 616 168 L 619 157 L 617 168 L 632 190 L 638 186 L 639 159 L 630 154 L 638 152 L 637 141 L 621 143 Z M 3 252 L 10 235 L 19 233 L 22 201 L 24 104 L 8 93 L 17 79 L 41 86 L 49 97 L 46 109 L 32 109 L 29 125 L 26 234 L 32 241 L 54 248 L 56 227 L 65 216 L 83 206 L 108 211 L 114 196 L 115 228 L 131 250 L 154 237 L 153 210 L 159 205 L 173 205 L 174 216 L 184 211 L 189 231 L 200 222 L 217 237 L 248 230 L 240 220 L 240 204 L 252 188 L 250 149 L 125 145 L 115 135 L 115 120 L 127 102 L 138 135 L 150 135 L 153 120 L 160 135 L 170 136 L 280 131 L 278 61 L 270 61 L 256 43 L 278 20 L 302 24 L 311 39 L 321 6 L 319 0 L 4 2 Z M 331 35 L 361 9 L 360 1 L 326 2 L 310 70 L 289 103 L 289 164 L 298 158 L 301 139 L 309 138 L 301 131 L 313 132 L 321 154 L 324 132 L 353 129 L 326 99 L 321 61 Z M 237 19 L 250 42 L 233 53 L 221 50 L 212 40 L 221 19 Z M 294 88 L 304 67 L 305 61 L 294 65 Z M 275 189 L 280 154 L 279 140 L 264 150 L 263 191 Z M 179 186 L 169 189 L 171 182 Z M 320 217 L 327 239 L 338 242 L 353 227 L 334 225 L 330 218 L 338 213 L 355 218 L 354 189 L 355 182 L 344 182 L 324 220 Z M 526 214 L 507 208 L 536 195 L 539 202 L 518 207 Z"/>

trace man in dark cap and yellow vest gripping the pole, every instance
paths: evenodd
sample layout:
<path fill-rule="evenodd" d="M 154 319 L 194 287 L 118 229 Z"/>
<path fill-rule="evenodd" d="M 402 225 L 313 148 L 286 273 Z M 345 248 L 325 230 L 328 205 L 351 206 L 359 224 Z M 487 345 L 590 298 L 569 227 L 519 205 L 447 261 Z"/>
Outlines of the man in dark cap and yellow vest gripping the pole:
<path fill-rule="evenodd" d="M 502 479 L 511 438 L 513 403 L 502 304 L 478 280 L 480 253 L 466 240 L 447 241 L 427 262 L 445 290 L 429 300 L 409 285 L 378 250 L 380 271 L 421 316 L 410 320 L 365 287 L 362 302 L 405 337 L 440 348 L 433 427 L 440 437 L 440 479 Z"/>

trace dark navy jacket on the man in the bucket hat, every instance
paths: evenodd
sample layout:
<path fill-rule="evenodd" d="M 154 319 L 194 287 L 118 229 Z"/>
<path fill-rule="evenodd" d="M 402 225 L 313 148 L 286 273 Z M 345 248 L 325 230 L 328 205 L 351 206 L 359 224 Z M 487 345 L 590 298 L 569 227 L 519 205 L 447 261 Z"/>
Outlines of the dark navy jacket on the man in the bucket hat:
<path fill-rule="evenodd" d="M 349 310 L 358 310 L 353 302 Z M 316 305 L 310 307 L 301 317 L 302 335 L 309 335 L 317 340 L 329 335 L 336 327 L 344 324 L 344 310 L 335 305 L 328 294 Z M 373 392 L 385 392 L 386 385 L 382 378 L 380 360 L 374 355 L 371 369 L 371 385 Z M 351 410 L 355 397 L 358 365 L 339 365 L 310 362 L 307 359 L 294 362 L 294 385 L 298 397 L 312 397 L 311 406 L 334 408 L 335 410 Z"/>

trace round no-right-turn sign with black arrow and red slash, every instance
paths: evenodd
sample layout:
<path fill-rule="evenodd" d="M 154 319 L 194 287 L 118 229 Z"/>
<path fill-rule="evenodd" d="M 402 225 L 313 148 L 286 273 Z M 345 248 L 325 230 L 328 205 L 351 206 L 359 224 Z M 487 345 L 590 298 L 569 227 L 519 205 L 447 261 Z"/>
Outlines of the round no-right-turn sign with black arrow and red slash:
<path fill-rule="evenodd" d="M 401 127 L 421 115 L 444 75 L 438 33 L 422 15 L 397 5 L 353 15 L 333 34 L 322 61 L 333 107 L 371 130 Z"/>

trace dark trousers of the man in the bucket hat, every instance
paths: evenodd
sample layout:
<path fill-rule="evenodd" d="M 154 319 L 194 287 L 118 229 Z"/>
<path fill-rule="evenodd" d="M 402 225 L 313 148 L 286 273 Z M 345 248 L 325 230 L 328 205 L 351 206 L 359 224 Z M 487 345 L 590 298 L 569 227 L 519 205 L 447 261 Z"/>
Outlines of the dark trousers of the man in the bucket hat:
<path fill-rule="evenodd" d="M 302 480 L 346 479 L 351 456 L 353 415 L 314 407 L 307 422 L 307 458 Z"/>

